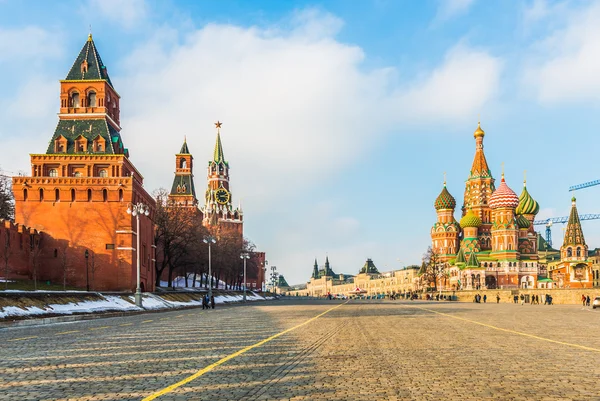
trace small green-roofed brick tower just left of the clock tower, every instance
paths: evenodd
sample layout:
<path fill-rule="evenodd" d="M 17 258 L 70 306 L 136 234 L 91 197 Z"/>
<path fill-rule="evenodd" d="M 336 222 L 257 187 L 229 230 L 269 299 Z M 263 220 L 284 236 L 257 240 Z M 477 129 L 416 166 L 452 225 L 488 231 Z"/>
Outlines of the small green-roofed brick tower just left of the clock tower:
<path fill-rule="evenodd" d="M 196 189 L 194 188 L 193 156 L 184 139 L 179 153 L 175 155 L 175 179 L 171 186 L 169 200 L 179 207 L 198 206 Z"/>

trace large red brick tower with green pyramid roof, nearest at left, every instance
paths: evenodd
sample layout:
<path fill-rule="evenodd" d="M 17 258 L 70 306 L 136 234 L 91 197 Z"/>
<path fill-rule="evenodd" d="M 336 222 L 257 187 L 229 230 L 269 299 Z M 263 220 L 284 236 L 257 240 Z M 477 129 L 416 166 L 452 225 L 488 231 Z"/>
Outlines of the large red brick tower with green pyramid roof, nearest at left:
<path fill-rule="evenodd" d="M 62 277 L 58 255 L 66 244 L 71 285 L 132 290 L 140 251 L 142 286 L 152 290 L 155 203 L 123 146 L 120 97 L 91 34 L 60 88 L 58 125 L 46 153 L 31 155 L 31 177 L 13 178 L 16 221 L 51 237 L 42 244 L 39 277 Z M 126 213 L 138 202 L 151 213 L 140 217 L 140 233 Z"/>

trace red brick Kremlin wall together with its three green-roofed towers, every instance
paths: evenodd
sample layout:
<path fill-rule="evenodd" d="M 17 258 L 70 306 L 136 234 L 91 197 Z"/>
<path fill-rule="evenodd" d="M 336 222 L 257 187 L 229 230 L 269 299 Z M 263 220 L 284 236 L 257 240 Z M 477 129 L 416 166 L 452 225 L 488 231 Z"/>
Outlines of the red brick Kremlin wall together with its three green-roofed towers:
<path fill-rule="evenodd" d="M 155 244 L 156 202 L 129 159 L 121 133 L 120 95 L 91 34 L 60 81 L 59 105 L 45 153 L 30 155 L 31 175 L 12 178 L 15 222 L 0 221 L 0 277 L 8 265 L 9 279 L 62 283 L 66 276 L 72 287 L 132 291 L 139 260 L 141 289 L 154 291 L 161 257 Z M 205 205 L 198 206 L 193 157 L 184 141 L 176 155 L 169 195 L 174 206 L 169 207 L 191 211 L 189 219 L 197 219 L 217 237 L 234 233 L 242 244 L 243 212 L 232 204 L 221 123 L 216 126 Z M 136 217 L 131 213 L 134 205 L 144 205 L 147 213 Z M 264 259 L 264 252 L 252 253 L 251 288 L 263 286 Z"/>

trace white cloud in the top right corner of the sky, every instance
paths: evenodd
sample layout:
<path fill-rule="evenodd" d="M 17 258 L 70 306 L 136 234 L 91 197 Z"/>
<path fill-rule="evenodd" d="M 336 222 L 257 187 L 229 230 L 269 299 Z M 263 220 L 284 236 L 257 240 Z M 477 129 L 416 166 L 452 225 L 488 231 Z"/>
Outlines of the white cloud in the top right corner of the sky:
<path fill-rule="evenodd" d="M 524 73 L 543 103 L 600 100 L 600 2 L 563 12 L 565 26 L 535 44 Z"/>

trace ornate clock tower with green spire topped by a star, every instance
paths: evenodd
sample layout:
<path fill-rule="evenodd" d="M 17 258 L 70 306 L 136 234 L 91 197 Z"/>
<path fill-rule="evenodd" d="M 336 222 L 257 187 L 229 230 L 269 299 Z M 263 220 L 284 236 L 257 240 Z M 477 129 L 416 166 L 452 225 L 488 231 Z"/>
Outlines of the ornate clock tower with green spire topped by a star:
<path fill-rule="evenodd" d="M 241 207 L 233 207 L 233 198 L 229 188 L 229 163 L 223 154 L 221 126 L 217 121 L 217 140 L 213 159 L 208 162 L 208 188 L 204 198 L 204 224 L 238 232 L 243 235 L 243 212 Z"/>

